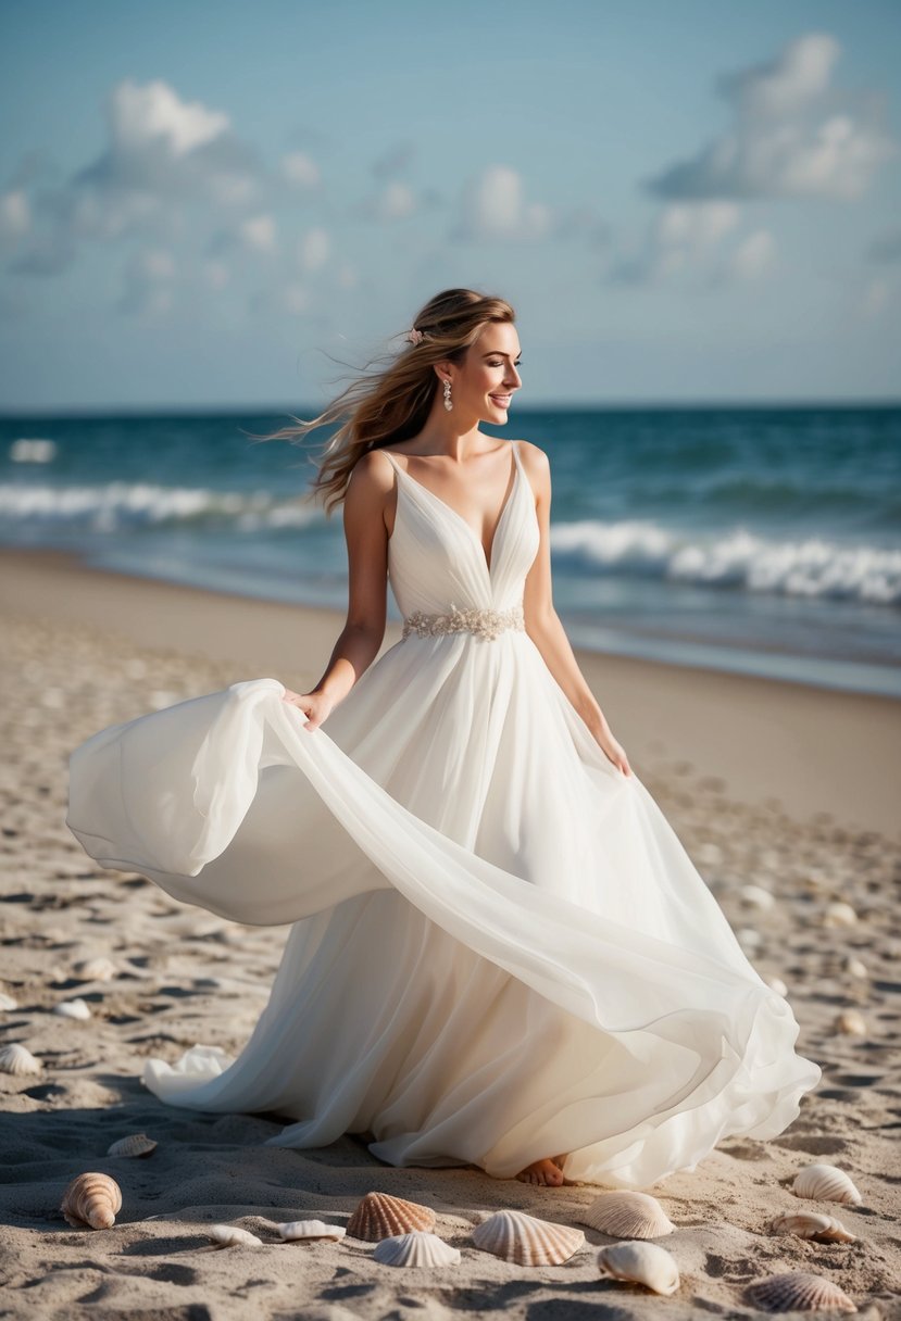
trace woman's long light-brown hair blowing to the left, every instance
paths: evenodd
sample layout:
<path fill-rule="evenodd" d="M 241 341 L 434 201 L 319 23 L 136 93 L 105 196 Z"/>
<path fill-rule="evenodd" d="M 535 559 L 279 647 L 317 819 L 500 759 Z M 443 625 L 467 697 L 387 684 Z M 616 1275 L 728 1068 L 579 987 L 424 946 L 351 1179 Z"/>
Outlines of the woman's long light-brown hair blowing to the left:
<path fill-rule="evenodd" d="M 370 359 L 318 417 L 305 421 L 292 413 L 296 427 L 254 439 L 296 444 L 308 432 L 343 419 L 321 452 L 318 473 L 305 497 L 320 497 L 329 515 L 342 502 L 350 474 L 367 450 L 408 440 L 423 429 L 439 388 L 435 363 L 462 362 L 489 321 L 513 324 L 515 314 L 503 299 L 474 289 L 436 293 L 414 318 L 412 329 L 423 332 L 419 343 L 406 341 L 399 355 L 395 350 Z M 377 370 L 369 371 L 374 363 Z"/>

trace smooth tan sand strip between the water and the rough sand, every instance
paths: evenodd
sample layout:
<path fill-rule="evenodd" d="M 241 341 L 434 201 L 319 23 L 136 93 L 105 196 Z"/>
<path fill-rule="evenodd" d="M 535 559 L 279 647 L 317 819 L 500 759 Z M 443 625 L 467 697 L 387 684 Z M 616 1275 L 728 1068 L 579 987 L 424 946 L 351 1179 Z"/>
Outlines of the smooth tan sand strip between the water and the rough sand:
<path fill-rule="evenodd" d="M 4 548 L 0 565 L 4 613 L 236 666 L 230 682 L 259 678 L 252 667 L 262 664 L 291 687 L 312 686 L 345 620 L 330 608 L 94 568 L 62 551 Z M 379 655 L 399 638 L 388 621 Z M 702 789 L 729 801 L 901 841 L 901 700 L 573 650 L 642 779 L 675 774 L 691 791 L 703 777 Z"/>

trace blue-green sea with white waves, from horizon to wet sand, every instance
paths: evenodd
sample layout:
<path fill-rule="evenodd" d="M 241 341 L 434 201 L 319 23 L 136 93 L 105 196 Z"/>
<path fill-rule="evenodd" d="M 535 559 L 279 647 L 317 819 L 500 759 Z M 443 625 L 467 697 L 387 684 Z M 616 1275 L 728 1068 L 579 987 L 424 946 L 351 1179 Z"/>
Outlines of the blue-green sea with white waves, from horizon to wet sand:
<path fill-rule="evenodd" d="M 308 453 L 250 439 L 288 420 L 0 417 L 0 542 L 341 609 L 340 511 L 301 501 Z M 482 429 L 551 457 L 573 643 L 901 695 L 901 408 L 521 408 Z"/>

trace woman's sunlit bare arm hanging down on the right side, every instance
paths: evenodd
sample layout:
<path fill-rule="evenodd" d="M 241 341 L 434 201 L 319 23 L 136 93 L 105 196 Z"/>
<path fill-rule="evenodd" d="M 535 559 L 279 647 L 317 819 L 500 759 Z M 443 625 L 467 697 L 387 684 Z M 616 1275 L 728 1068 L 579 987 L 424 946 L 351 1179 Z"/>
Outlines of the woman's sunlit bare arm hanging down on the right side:
<path fill-rule="evenodd" d="M 543 449 L 519 441 L 523 466 L 535 495 L 535 513 L 540 542 L 535 561 L 526 577 L 523 610 L 526 631 L 558 684 L 585 721 L 610 761 L 626 775 L 631 774 L 625 750 L 613 737 L 606 716 L 588 687 L 585 676 L 567 638 L 560 617 L 554 609 L 551 587 L 551 465 Z"/>

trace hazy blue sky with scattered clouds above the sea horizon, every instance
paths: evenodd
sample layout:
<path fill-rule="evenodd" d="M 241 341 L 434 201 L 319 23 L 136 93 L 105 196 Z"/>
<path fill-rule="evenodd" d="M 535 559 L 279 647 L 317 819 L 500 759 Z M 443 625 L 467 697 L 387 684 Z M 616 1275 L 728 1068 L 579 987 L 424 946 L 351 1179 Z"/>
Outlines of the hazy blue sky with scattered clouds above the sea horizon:
<path fill-rule="evenodd" d="M 4 0 L 0 408 L 320 403 L 449 285 L 522 404 L 901 396 L 897 0 Z"/>

